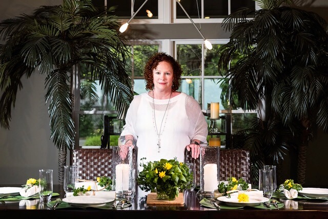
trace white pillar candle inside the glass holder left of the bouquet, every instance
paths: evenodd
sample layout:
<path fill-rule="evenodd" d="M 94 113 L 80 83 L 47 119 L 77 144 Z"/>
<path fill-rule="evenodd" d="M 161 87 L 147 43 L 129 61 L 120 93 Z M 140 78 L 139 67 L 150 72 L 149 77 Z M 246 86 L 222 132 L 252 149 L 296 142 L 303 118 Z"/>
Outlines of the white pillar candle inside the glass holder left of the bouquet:
<path fill-rule="evenodd" d="M 127 191 L 129 190 L 129 164 L 118 164 L 115 167 L 115 190 L 116 191 Z"/>

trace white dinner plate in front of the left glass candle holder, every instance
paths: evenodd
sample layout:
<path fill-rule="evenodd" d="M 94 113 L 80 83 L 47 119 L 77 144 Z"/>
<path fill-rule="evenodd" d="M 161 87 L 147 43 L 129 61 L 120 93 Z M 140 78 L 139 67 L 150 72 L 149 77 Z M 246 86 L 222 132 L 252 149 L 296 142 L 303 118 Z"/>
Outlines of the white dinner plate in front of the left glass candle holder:
<path fill-rule="evenodd" d="M 82 207 L 102 206 L 114 200 L 115 198 L 99 197 L 95 195 L 78 195 L 78 196 L 70 196 L 70 197 L 63 198 L 63 202 L 66 202 L 72 206 L 82 206 Z"/>

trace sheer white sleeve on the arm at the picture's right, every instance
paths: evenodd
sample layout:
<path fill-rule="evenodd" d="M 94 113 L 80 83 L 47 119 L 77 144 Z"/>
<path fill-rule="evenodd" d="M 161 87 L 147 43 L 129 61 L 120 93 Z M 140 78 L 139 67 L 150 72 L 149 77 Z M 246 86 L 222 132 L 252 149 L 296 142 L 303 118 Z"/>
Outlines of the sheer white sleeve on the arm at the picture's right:
<path fill-rule="evenodd" d="M 198 102 L 192 97 L 186 97 L 186 112 L 190 120 L 189 136 L 191 140 L 197 139 L 207 146 L 208 124 Z"/>

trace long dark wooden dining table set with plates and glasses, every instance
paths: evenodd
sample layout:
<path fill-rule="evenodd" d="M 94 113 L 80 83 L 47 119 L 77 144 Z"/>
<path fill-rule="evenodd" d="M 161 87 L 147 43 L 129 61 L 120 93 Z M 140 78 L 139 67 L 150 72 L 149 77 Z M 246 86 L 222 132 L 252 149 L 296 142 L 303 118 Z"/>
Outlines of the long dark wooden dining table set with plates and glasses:
<path fill-rule="evenodd" d="M 0 185 L 0 187 L 20 187 L 21 185 Z M 56 198 L 65 198 L 63 185 L 54 185 L 51 203 Z M 19 218 L 326 218 L 328 217 L 328 198 L 296 198 L 288 200 L 276 198 L 279 208 L 224 207 L 217 202 L 219 208 L 202 205 L 203 197 L 197 195 L 197 190 L 186 190 L 182 194 L 183 202 L 180 205 L 150 205 L 147 202 L 149 192 L 136 189 L 135 196 L 129 198 L 128 205 L 119 207 L 76 207 L 53 209 L 49 204 L 41 203 L 37 198 L 27 200 L 3 201 L 0 198 L 0 215 Z M 118 201 L 122 198 L 116 197 Z M 115 201 L 113 201 L 114 203 Z M 111 203 L 110 203 L 110 206 Z M 222 207 L 221 207 L 222 206 Z"/>

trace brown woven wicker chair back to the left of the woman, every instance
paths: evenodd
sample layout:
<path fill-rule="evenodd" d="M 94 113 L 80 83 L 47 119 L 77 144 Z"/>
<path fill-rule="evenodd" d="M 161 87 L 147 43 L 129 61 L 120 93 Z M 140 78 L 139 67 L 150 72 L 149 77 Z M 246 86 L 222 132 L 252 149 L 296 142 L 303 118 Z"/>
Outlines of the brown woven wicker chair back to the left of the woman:
<path fill-rule="evenodd" d="M 137 152 L 133 148 L 133 167 L 136 167 Z M 112 148 L 109 149 L 83 149 L 73 150 L 72 165 L 78 167 L 78 178 L 96 181 L 97 176 L 112 176 Z"/>

